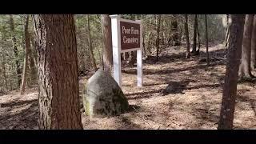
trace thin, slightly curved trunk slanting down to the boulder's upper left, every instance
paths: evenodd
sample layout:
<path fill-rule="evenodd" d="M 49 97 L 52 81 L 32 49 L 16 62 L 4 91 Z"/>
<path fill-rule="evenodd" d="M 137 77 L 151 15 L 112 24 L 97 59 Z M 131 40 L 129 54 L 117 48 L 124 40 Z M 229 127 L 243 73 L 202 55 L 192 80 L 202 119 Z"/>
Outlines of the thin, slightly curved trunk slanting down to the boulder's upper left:
<path fill-rule="evenodd" d="M 98 70 L 95 58 L 94 58 L 94 51 L 93 51 L 93 45 L 90 38 L 90 16 L 87 14 L 87 30 L 88 30 L 88 44 L 89 44 L 89 51 L 90 51 L 90 61 L 92 63 L 92 66 L 94 67 L 94 71 L 96 72 Z"/>

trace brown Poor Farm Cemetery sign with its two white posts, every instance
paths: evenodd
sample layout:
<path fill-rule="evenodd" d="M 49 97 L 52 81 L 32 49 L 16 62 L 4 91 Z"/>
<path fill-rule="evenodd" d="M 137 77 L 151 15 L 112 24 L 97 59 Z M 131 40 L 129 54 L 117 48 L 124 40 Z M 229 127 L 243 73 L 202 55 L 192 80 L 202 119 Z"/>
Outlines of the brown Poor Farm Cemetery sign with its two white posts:
<path fill-rule="evenodd" d="M 142 86 L 142 24 L 141 21 L 110 15 L 113 45 L 114 79 L 122 87 L 121 53 L 137 50 L 137 86 Z M 121 28 L 122 27 L 122 28 Z"/>

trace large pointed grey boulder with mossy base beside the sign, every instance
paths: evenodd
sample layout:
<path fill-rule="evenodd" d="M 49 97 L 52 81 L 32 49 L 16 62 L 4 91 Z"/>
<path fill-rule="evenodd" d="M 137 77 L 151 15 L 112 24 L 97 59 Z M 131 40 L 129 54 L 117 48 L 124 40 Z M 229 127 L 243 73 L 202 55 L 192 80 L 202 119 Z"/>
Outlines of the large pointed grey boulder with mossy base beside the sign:
<path fill-rule="evenodd" d="M 83 105 L 90 118 L 119 115 L 128 110 L 127 98 L 106 71 L 98 70 L 89 78 L 84 92 Z"/>

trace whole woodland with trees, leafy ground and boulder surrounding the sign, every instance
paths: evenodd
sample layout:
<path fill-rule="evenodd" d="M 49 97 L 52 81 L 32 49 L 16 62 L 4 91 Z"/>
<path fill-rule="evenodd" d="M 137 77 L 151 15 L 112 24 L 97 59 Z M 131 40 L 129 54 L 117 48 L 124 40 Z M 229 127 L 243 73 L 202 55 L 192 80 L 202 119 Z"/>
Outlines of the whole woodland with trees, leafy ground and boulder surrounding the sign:
<path fill-rule="evenodd" d="M 114 79 L 109 14 L 0 15 L 0 129 L 256 128 L 256 15 L 118 17 L 141 22 L 142 86 L 136 50 Z"/>

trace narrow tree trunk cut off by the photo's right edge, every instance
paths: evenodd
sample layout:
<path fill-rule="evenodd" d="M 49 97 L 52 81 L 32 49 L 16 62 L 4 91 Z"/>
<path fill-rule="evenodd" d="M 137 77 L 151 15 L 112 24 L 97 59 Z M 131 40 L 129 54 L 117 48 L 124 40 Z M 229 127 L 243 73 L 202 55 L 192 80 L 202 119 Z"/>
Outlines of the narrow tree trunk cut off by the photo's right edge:
<path fill-rule="evenodd" d="M 256 14 L 254 14 L 254 24 L 251 36 L 251 69 L 256 68 Z"/>

